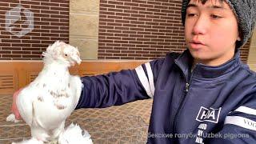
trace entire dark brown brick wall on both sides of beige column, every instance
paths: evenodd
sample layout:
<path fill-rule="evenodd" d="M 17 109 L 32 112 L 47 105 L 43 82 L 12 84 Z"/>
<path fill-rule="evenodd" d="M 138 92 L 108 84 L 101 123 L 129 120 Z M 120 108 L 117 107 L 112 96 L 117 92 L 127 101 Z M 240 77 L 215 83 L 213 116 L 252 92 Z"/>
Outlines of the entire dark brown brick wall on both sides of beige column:
<path fill-rule="evenodd" d="M 153 59 L 163 57 L 170 51 L 185 50 L 181 2 L 101 0 L 98 58 Z M 19 4 L 34 13 L 34 29 L 21 38 L 6 30 L 6 22 L 10 22 L 6 21 L 6 12 Z M 2 0 L 0 60 L 41 59 L 42 51 L 55 40 L 69 42 L 69 5 L 69 0 Z M 12 30 L 20 31 L 23 25 L 24 22 L 19 20 L 13 24 L 17 28 Z M 246 62 L 249 47 L 250 43 L 247 43 L 242 48 L 243 62 Z"/>

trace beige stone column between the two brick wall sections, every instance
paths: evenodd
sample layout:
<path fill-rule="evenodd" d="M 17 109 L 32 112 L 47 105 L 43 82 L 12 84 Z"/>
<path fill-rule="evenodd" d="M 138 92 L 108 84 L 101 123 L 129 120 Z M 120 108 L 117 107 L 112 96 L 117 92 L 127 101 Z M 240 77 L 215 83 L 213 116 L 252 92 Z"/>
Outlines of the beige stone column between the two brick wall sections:
<path fill-rule="evenodd" d="M 99 0 L 70 0 L 70 44 L 82 59 L 98 58 Z"/>

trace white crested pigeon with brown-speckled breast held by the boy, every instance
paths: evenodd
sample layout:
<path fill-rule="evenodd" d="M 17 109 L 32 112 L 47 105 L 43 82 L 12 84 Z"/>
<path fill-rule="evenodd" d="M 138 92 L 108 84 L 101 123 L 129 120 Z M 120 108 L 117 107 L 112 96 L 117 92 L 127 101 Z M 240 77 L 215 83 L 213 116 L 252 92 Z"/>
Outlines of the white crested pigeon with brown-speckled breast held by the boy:
<path fill-rule="evenodd" d="M 78 48 L 59 41 L 48 46 L 42 55 L 43 69 L 18 94 L 17 106 L 30 126 L 32 138 L 50 142 L 64 132 L 65 120 L 78 103 L 82 82 L 78 76 L 70 75 L 68 67 L 80 64 L 81 59 Z"/>

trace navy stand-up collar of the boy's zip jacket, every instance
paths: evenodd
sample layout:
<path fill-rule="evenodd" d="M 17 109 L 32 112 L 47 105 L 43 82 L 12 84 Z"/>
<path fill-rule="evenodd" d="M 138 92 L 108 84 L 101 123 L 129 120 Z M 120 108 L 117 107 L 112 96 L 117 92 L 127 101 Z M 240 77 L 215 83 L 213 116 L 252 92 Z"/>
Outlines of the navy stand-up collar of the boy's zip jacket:
<path fill-rule="evenodd" d="M 174 60 L 174 62 L 180 67 L 183 74 L 186 77 L 188 82 L 190 78 L 190 70 L 193 63 L 194 58 L 190 54 L 189 50 L 185 50 L 178 58 Z M 223 63 L 220 66 L 206 66 L 201 63 L 196 64 L 193 70 L 193 77 L 197 78 L 217 78 L 223 74 L 229 73 L 234 70 L 238 66 L 241 65 L 240 60 L 240 51 L 238 50 L 234 58 L 230 59 L 228 62 Z"/>

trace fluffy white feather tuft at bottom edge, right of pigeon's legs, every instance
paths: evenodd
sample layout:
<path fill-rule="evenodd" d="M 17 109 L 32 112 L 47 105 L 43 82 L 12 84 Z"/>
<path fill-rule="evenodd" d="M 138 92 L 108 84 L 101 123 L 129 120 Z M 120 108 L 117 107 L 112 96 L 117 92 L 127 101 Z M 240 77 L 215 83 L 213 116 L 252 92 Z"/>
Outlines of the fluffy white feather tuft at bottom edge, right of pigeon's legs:
<path fill-rule="evenodd" d="M 92 144 L 90 134 L 82 129 L 77 124 L 71 123 L 66 130 L 59 135 L 58 144 Z"/>

